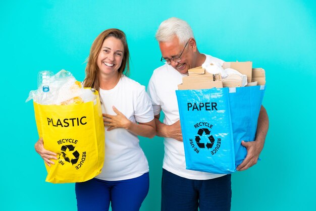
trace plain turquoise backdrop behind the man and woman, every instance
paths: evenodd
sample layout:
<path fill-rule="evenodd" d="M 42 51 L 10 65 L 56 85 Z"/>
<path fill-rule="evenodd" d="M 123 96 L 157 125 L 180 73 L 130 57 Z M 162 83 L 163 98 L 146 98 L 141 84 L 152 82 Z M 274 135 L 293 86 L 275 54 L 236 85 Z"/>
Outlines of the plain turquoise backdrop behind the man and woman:
<path fill-rule="evenodd" d="M 161 65 L 154 39 L 170 17 L 186 20 L 200 52 L 266 70 L 270 129 L 261 161 L 232 176 L 232 210 L 316 210 L 314 1 L 2 1 L 0 210 L 76 210 L 74 184 L 46 183 L 32 102 L 37 73 L 84 79 L 85 59 L 104 29 L 120 28 L 131 78 L 147 85 Z M 160 210 L 162 138 L 141 138 L 150 190 L 141 210 Z"/>

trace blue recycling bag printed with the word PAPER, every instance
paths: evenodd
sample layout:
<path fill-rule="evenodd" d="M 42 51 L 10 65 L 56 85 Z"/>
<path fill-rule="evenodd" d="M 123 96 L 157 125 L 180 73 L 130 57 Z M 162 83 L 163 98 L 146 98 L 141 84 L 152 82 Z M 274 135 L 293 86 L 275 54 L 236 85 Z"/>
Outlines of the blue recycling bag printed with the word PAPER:
<path fill-rule="evenodd" d="M 231 174 L 253 141 L 265 86 L 176 90 L 186 169 Z"/>

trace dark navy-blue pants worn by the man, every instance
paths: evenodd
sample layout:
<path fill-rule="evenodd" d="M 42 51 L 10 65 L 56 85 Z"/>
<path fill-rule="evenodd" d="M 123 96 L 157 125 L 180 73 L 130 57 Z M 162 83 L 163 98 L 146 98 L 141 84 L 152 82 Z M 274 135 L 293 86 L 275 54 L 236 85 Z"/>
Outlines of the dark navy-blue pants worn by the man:
<path fill-rule="evenodd" d="M 229 211 L 231 207 L 231 175 L 190 180 L 163 169 L 162 211 Z"/>

